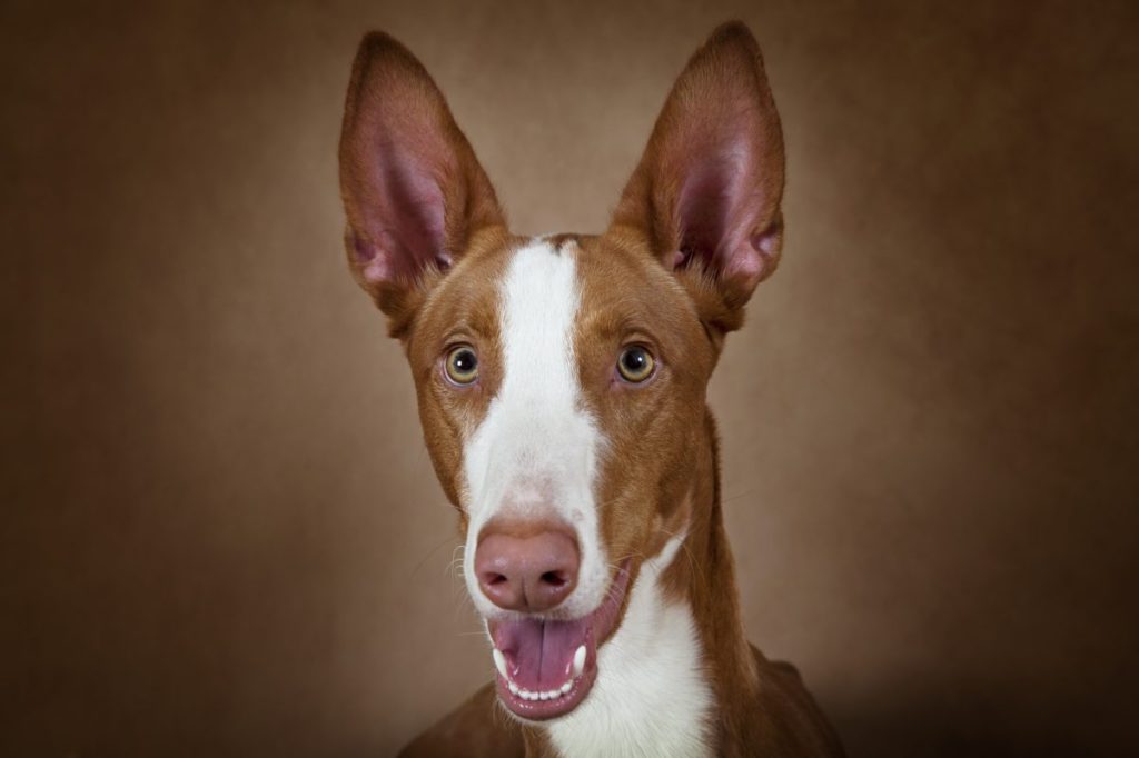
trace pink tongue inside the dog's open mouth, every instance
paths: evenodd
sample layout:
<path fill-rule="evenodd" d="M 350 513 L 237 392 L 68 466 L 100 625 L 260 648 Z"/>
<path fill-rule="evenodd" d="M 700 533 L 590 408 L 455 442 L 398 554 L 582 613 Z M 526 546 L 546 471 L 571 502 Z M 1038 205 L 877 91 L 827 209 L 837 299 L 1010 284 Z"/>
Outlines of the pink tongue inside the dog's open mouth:
<path fill-rule="evenodd" d="M 588 618 L 500 621 L 494 629 L 494 646 L 506 656 L 515 684 L 532 691 L 556 690 L 570 678 L 573 654 L 585 644 L 588 631 Z"/>

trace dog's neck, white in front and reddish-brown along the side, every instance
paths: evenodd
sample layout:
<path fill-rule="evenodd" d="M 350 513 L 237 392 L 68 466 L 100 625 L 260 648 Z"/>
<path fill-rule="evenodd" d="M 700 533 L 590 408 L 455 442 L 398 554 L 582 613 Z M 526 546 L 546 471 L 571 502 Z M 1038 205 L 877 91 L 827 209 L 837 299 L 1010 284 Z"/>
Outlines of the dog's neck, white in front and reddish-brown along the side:
<path fill-rule="evenodd" d="M 720 509 L 715 425 L 691 461 L 687 535 L 642 563 L 590 699 L 524 730 L 527 756 L 712 756 L 745 727 L 759 676 Z"/>

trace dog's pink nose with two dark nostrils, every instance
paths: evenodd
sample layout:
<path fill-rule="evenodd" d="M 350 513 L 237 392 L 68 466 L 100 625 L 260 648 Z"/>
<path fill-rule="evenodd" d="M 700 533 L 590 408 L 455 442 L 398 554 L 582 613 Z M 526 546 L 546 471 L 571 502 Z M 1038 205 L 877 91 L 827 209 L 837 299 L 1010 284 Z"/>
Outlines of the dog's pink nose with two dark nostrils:
<path fill-rule="evenodd" d="M 478 586 L 499 608 L 549 610 L 577 585 L 577 541 L 565 528 L 491 522 L 476 550 Z"/>

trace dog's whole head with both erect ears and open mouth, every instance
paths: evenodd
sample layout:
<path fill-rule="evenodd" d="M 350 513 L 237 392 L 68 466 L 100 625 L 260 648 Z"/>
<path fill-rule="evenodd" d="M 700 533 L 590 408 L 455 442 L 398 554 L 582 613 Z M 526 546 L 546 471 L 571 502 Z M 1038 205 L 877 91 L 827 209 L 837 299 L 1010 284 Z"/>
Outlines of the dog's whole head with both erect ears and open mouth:
<path fill-rule="evenodd" d="M 499 694 L 565 715 L 640 566 L 689 526 L 707 380 L 778 262 L 759 50 L 727 25 L 697 51 L 600 236 L 510 234 L 439 90 L 382 34 L 357 57 L 341 176 L 350 263 L 405 346 Z"/>

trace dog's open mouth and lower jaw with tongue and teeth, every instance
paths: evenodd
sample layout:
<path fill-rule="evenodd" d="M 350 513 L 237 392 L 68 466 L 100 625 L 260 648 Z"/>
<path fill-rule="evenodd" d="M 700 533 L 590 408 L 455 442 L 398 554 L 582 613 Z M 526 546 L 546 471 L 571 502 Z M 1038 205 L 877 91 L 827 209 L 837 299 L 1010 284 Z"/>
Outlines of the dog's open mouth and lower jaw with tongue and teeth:
<path fill-rule="evenodd" d="M 573 711 L 597 681 L 597 650 L 621 613 L 629 591 L 624 561 L 597 609 L 573 620 L 487 619 L 495 682 L 502 705 L 517 718 L 547 722 Z"/>

